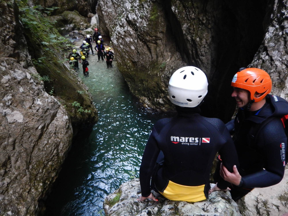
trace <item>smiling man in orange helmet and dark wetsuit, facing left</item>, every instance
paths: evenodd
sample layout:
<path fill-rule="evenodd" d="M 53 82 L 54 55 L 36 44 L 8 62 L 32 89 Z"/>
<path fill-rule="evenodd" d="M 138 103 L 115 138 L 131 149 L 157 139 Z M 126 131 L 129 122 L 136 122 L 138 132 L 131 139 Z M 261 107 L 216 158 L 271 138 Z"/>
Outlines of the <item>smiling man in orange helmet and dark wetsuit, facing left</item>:
<path fill-rule="evenodd" d="M 270 95 L 272 81 L 257 68 L 241 68 L 233 77 L 232 97 L 238 106 L 236 118 L 226 126 L 234 132 L 233 141 L 240 167 L 230 173 L 221 165 L 220 176 L 231 183 L 231 196 L 237 201 L 255 187 L 279 183 L 284 175 L 287 136 L 281 118 L 288 114 L 288 102 Z M 220 168 L 220 162 L 218 163 Z M 219 169 L 214 178 L 219 179 Z M 218 190 L 217 185 L 211 192 Z"/>

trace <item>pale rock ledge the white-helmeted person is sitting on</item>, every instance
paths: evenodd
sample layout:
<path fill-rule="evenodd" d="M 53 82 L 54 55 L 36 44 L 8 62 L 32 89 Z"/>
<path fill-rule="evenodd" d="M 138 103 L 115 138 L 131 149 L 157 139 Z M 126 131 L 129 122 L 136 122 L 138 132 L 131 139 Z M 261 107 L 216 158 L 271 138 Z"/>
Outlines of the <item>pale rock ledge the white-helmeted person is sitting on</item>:
<path fill-rule="evenodd" d="M 213 186 L 213 184 L 212 184 Z M 171 215 L 233 215 L 241 216 L 237 204 L 232 200 L 229 192 L 214 192 L 209 200 L 188 203 L 183 201 L 158 198 L 158 202 L 145 200 L 138 202 L 141 195 L 139 179 L 126 182 L 113 194 L 106 197 L 103 204 L 108 216 L 171 216 Z"/>

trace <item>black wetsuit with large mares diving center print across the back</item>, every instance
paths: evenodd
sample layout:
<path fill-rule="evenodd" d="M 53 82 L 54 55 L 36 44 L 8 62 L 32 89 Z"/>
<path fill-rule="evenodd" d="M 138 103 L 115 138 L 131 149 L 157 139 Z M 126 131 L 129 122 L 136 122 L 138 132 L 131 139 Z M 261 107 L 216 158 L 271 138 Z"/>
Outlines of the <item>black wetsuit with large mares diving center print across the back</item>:
<path fill-rule="evenodd" d="M 169 180 L 186 186 L 205 185 L 208 198 L 209 175 L 217 151 L 225 155 L 223 163 L 232 171 L 238 164 L 235 146 L 221 120 L 202 117 L 198 107 L 176 109 L 177 117 L 161 119 L 152 128 L 140 166 L 142 196 L 151 193 L 151 173 L 162 150 L 164 164 L 155 177 L 157 190 L 163 192 Z"/>

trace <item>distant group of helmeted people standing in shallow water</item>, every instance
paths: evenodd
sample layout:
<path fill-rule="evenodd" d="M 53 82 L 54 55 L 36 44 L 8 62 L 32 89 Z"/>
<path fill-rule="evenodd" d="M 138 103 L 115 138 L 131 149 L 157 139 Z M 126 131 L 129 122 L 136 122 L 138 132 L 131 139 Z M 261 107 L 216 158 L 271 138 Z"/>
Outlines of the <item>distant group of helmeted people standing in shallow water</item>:
<path fill-rule="evenodd" d="M 114 53 L 112 52 L 111 47 L 105 49 L 102 36 L 100 32 L 98 32 L 98 29 L 95 28 L 93 33 L 93 39 L 90 37 L 90 35 L 86 35 L 86 38 L 84 39 L 82 45 L 79 47 L 79 52 L 77 52 L 76 49 L 73 49 L 68 56 L 69 64 L 73 69 L 79 69 L 78 61 L 79 63 L 81 63 L 82 60 L 81 64 L 83 68 L 83 74 L 85 76 L 89 75 L 89 62 L 87 58 L 89 57 L 90 49 L 92 51 L 92 55 L 95 55 L 91 44 L 93 41 L 96 42 L 96 46 L 94 47 L 94 49 L 98 55 L 98 62 L 100 61 L 101 57 L 102 61 L 104 61 L 104 59 L 106 60 L 107 68 L 113 67 L 112 61 L 114 58 Z"/>

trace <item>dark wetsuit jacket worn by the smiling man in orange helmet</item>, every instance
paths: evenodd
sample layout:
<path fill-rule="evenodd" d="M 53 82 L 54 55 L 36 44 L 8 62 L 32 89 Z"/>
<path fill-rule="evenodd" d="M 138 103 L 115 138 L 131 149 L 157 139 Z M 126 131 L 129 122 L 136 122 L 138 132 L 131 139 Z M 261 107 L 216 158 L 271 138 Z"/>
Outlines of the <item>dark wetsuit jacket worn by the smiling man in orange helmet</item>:
<path fill-rule="evenodd" d="M 261 109 L 238 110 L 233 121 L 233 140 L 240 162 L 241 187 L 268 187 L 282 180 L 287 137 L 281 117 L 287 114 L 288 102 L 270 94 Z M 269 122 L 264 124 L 265 121 Z M 260 127 L 261 123 L 263 127 Z M 233 128 L 231 124 L 229 127 Z M 255 128 L 259 130 L 256 132 Z"/>

